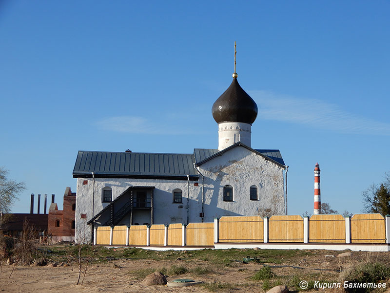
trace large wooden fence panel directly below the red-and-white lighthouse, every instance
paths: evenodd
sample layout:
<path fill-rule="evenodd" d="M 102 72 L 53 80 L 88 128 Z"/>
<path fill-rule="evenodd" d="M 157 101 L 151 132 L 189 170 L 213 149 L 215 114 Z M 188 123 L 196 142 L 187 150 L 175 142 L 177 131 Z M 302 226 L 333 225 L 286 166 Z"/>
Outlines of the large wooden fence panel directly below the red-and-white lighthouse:
<path fill-rule="evenodd" d="M 312 215 L 309 242 L 345 243 L 345 219 L 342 215 Z"/>

